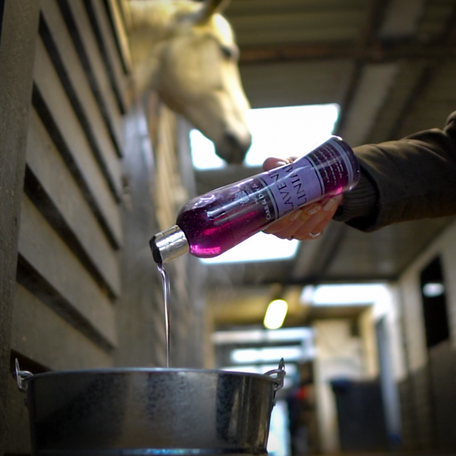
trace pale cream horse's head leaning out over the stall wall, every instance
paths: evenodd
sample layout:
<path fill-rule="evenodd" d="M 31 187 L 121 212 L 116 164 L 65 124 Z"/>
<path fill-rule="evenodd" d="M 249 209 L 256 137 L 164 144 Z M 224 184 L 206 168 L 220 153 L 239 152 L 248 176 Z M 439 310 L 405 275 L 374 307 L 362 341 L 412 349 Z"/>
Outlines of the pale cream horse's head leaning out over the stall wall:
<path fill-rule="evenodd" d="M 139 93 L 163 102 L 214 142 L 217 155 L 242 163 L 251 145 L 249 102 L 224 0 L 130 0 L 129 35 Z"/>

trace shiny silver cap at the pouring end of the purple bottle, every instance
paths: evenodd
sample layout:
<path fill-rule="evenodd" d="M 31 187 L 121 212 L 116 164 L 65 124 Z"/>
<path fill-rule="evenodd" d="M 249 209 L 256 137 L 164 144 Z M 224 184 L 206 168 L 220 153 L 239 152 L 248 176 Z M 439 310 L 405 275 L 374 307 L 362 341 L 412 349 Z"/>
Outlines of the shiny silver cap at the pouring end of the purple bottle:
<path fill-rule="evenodd" d="M 165 264 L 190 251 L 185 233 L 174 225 L 157 233 L 149 242 L 156 263 Z"/>

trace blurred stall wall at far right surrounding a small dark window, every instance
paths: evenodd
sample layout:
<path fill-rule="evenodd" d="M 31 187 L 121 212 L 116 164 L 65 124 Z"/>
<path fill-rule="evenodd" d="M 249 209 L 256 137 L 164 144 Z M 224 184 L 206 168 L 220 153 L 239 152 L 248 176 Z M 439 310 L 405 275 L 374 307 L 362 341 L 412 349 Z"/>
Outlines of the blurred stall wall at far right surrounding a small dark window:
<path fill-rule="evenodd" d="M 443 265 L 449 338 L 427 347 L 420 274 L 436 257 Z M 406 373 L 399 382 L 405 448 L 456 450 L 456 225 L 408 268 L 398 283 Z"/>

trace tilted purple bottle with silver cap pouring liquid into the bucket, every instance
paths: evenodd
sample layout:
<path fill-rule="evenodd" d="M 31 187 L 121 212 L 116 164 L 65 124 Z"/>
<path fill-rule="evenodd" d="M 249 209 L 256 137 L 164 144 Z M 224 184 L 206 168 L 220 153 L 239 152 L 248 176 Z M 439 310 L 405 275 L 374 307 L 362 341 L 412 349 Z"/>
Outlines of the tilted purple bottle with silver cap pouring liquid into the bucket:
<path fill-rule="evenodd" d="M 351 147 L 331 136 L 291 164 L 190 200 L 176 225 L 151 239 L 154 260 L 220 255 L 298 207 L 352 189 L 359 174 Z"/>

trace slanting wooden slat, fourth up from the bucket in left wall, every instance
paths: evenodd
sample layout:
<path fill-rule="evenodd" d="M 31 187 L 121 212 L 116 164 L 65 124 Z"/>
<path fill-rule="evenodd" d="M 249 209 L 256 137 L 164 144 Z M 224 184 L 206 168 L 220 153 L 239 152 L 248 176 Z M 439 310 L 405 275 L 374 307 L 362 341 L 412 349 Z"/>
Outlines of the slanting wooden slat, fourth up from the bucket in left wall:
<path fill-rule="evenodd" d="M 85 191 L 86 199 L 90 202 L 92 210 L 96 212 L 97 217 L 107 229 L 110 240 L 119 246 L 122 239 L 119 208 L 103 178 L 81 124 L 41 39 L 37 40 L 34 77 L 39 94 L 46 105 L 38 103 L 38 94 L 36 97 L 34 96 L 34 106 L 38 114 L 43 118 L 44 111 L 46 109 L 49 111 L 51 119 L 43 118 L 43 123 L 49 131 L 51 130 L 50 122 L 56 123 L 55 126 L 52 126 L 53 133 L 50 133 L 53 141 L 56 142 L 58 133 L 61 136 L 60 142 L 63 141 L 63 144 L 56 145 L 61 153 L 65 153 L 67 166 L 71 167 L 74 175 L 78 174 L 80 185 Z M 58 129 L 58 132 L 55 129 Z"/>

